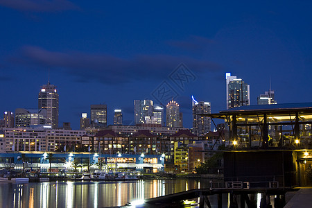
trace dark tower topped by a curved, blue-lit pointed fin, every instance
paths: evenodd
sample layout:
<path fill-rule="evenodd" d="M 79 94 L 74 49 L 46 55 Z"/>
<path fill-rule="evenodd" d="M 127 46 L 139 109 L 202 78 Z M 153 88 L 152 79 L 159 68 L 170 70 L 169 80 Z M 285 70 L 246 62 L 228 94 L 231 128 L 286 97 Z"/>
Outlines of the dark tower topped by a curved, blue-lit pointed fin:
<path fill-rule="evenodd" d="M 192 96 L 193 108 L 193 133 L 197 136 L 206 135 L 211 131 L 211 120 L 208 116 L 200 116 L 200 114 L 210 114 L 211 105 L 209 102 L 198 102 Z"/>

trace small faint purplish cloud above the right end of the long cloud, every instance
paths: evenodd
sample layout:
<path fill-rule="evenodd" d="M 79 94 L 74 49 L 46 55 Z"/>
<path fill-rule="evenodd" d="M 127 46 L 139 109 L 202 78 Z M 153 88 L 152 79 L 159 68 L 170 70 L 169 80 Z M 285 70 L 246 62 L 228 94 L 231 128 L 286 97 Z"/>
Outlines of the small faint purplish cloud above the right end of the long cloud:
<path fill-rule="evenodd" d="M 202 53 L 210 44 L 216 44 L 216 41 L 206 37 L 191 35 L 188 40 L 171 40 L 168 44 L 184 51 Z"/>

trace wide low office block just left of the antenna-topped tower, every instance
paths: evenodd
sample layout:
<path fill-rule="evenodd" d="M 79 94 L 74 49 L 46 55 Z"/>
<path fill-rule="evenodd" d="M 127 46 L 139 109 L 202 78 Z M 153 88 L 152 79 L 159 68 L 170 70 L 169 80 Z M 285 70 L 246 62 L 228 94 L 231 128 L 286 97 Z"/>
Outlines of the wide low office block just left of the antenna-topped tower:
<path fill-rule="evenodd" d="M 17 108 L 15 110 L 15 127 L 33 127 L 35 125 L 44 125 L 46 123 L 46 109 L 25 109 Z"/>

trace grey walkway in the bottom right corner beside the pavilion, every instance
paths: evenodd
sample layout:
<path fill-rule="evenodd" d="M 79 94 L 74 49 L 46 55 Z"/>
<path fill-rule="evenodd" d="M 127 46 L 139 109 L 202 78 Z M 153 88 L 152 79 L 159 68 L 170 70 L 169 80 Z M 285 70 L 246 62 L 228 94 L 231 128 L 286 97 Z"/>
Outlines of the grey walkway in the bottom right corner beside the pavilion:
<path fill-rule="evenodd" d="M 291 194 L 291 193 L 288 193 Z M 312 187 L 302 188 L 293 192 L 293 197 L 287 202 L 284 208 L 311 208 L 312 207 Z"/>

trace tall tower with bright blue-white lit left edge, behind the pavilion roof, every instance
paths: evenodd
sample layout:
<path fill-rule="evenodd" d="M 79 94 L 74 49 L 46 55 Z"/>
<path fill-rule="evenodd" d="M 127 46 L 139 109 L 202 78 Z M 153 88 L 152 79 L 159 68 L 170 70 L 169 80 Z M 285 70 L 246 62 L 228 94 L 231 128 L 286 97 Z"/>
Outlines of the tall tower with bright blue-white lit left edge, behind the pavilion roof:
<path fill-rule="evenodd" d="M 227 88 L 227 109 L 250 105 L 250 86 L 244 83 L 241 78 L 225 74 Z"/>

